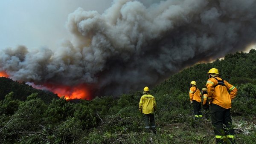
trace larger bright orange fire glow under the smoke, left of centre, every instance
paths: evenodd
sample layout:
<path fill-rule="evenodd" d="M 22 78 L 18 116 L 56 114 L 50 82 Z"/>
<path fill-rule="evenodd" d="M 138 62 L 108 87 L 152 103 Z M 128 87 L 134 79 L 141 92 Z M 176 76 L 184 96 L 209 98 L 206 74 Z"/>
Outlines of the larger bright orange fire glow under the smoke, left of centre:
<path fill-rule="evenodd" d="M 45 85 L 51 92 L 56 93 L 58 97 L 69 99 L 86 99 L 91 100 L 90 92 L 86 84 L 79 84 L 76 86 L 62 86 L 62 85 Z"/>

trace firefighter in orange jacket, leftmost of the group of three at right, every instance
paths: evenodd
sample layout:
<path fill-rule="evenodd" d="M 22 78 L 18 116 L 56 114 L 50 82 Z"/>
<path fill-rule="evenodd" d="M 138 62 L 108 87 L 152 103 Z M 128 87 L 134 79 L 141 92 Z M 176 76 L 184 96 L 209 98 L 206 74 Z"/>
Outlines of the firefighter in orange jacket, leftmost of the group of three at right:
<path fill-rule="evenodd" d="M 190 103 L 193 104 L 195 119 L 202 117 L 201 112 L 201 92 L 196 87 L 196 82 L 191 81 L 189 90 Z"/>

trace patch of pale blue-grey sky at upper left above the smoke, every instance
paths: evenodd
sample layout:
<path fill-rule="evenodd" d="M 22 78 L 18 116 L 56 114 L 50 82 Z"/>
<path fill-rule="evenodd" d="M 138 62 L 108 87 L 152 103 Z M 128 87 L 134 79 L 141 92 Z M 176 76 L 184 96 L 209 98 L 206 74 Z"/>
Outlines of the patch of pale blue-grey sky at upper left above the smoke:
<path fill-rule="evenodd" d="M 27 46 L 29 49 L 58 46 L 69 38 L 68 14 L 79 7 L 100 14 L 113 0 L 0 0 L 0 49 Z"/>

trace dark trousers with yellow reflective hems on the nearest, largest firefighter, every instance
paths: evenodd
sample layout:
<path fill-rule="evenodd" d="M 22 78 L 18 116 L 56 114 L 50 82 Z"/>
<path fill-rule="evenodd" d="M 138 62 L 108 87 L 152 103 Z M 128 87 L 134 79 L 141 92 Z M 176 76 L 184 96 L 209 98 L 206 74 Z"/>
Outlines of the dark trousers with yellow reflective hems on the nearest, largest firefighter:
<path fill-rule="evenodd" d="M 210 114 L 212 126 L 214 127 L 216 142 L 221 144 L 234 144 L 235 131 L 232 128 L 230 109 L 225 109 L 223 107 L 218 106 L 217 104 L 211 104 Z"/>

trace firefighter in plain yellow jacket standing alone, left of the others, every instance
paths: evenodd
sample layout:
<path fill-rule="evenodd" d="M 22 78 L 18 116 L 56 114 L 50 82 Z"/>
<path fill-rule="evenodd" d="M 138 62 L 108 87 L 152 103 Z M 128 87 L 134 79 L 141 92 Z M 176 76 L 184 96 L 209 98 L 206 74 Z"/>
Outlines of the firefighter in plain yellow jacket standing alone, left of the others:
<path fill-rule="evenodd" d="M 140 97 L 139 109 L 143 113 L 143 120 L 145 123 L 145 130 L 150 132 L 150 126 L 153 133 L 157 133 L 156 124 L 154 121 L 154 111 L 156 110 L 157 104 L 154 96 L 149 94 L 148 86 L 143 89 L 143 95 Z M 150 121 L 150 124 L 149 124 Z"/>

